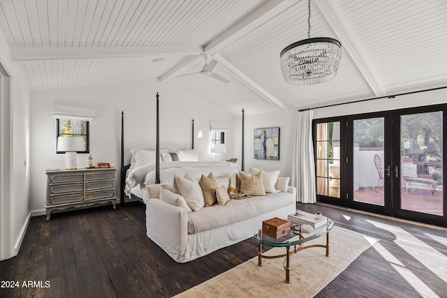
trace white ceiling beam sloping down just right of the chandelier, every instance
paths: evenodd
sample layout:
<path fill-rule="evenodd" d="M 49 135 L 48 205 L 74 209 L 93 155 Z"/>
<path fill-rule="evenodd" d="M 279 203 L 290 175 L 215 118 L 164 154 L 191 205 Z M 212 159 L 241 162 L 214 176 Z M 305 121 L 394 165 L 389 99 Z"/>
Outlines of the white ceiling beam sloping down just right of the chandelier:
<path fill-rule="evenodd" d="M 353 35 L 349 25 L 344 20 L 342 13 L 340 13 L 337 8 L 337 3 L 331 0 L 314 0 L 314 2 L 330 27 L 332 27 L 332 30 L 334 30 L 339 42 L 342 43 L 342 47 L 348 52 L 374 94 L 376 96 L 385 95 L 385 88 L 383 87 L 380 77 L 376 75 L 369 59 L 363 54 L 364 51 L 362 50 L 362 47 L 360 47 L 356 41 L 356 36 Z M 343 57 L 340 63 L 343 63 Z"/>

